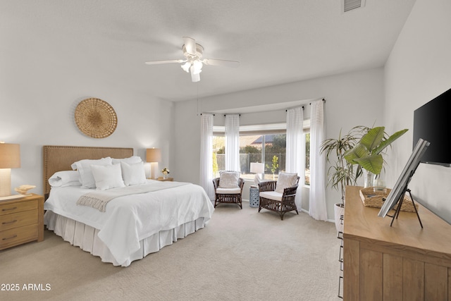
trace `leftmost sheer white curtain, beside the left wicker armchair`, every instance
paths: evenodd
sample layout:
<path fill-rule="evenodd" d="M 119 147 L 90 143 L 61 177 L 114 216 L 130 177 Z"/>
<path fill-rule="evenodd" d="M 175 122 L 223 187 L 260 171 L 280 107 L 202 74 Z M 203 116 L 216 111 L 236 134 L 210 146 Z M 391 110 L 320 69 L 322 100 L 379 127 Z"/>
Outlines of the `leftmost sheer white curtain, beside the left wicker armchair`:
<path fill-rule="evenodd" d="M 200 185 L 210 199 L 214 199 L 212 152 L 213 115 L 202 114 L 200 128 Z"/>

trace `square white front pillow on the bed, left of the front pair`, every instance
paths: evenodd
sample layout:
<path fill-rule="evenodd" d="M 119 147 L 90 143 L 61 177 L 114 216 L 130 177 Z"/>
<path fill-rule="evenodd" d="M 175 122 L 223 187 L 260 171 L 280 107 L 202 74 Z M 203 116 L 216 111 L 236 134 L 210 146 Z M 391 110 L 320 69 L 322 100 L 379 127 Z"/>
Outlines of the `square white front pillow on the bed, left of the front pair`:
<path fill-rule="evenodd" d="M 91 165 L 91 170 L 97 190 L 125 187 L 120 164 Z"/>

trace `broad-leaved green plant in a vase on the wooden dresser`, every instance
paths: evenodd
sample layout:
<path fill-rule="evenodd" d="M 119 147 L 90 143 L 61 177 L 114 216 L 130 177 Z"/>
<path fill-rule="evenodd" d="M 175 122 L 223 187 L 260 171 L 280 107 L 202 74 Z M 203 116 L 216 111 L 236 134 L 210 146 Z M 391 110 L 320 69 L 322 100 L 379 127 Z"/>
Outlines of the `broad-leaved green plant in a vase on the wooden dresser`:
<path fill-rule="evenodd" d="M 393 135 L 385 133 L 385 127 L 366 128 L 366 133 L 360 141 L 347 150 L 344 157 L 347 164 L 358 164 L 364 171 L 364 187 L 374 186 L 374 180 L 382 169 L 385 160 L 383 154 L 385 149 L 397 138 L 404 135 L 407 129 L 399 130 Z"/>

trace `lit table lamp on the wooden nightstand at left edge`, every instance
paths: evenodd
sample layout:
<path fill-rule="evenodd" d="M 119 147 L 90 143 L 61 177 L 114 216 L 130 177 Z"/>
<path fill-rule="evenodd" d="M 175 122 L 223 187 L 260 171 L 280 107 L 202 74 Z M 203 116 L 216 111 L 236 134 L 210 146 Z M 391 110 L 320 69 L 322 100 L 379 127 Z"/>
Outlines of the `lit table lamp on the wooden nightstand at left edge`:
<path fill-rule="evenodd" d="M 20 145 L 0 142 L 0 199 L 12 199 L 23 195 L 11 195 L 11 168 L 20 167 Z"/>

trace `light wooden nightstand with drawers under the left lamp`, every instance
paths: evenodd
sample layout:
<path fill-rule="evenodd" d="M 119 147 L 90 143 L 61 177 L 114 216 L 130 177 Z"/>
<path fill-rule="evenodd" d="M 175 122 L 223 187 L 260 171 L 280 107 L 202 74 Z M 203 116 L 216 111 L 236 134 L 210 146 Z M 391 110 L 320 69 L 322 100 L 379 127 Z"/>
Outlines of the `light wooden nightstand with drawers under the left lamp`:
<path fill-rule="evenodd" d="M 44 240 L 44 197 L 1 201 L 0 250 L 34 240 Z"/>

